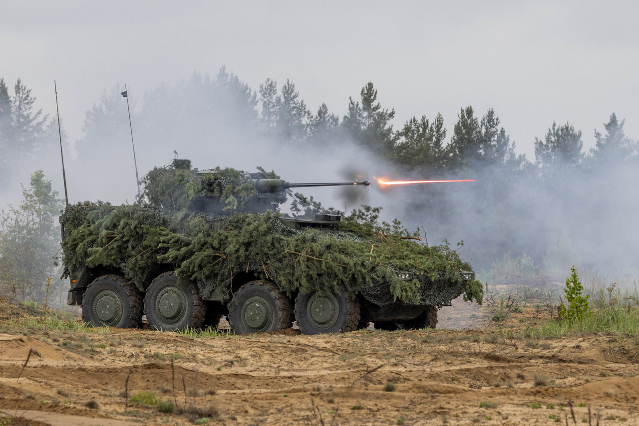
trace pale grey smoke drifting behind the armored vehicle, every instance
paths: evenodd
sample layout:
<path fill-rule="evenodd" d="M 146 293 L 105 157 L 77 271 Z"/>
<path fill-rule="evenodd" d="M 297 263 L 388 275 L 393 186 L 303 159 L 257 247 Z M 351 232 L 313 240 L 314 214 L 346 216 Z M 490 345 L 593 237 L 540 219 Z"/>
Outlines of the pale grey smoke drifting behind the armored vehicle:
<path fill-rule="evenodd" d="M 408 229 L 420 227 L 431 245 L 447 239 L 454 246 L 463 240 L 465 247 L 459 253 L 478 272 L 491 270 L 504 255 L 530 257 L 537 272 L 543 270 L 553 280 L 565 279 L 573 264 L 615 277 L 634 277 L 639 265 L 636 157 L 605 167 L 558 168 L 544 179 L 533 176 L 532 165 L 514 174 L 471 165 L 456 172 L 456 178 L 475 182 L 380 188 L 375 177 L 450 176 L 404 171 L 350 141 L 344 132 L 292 142 L 295 132 L 268 125 L 256 93 L 233 74 L 222 73 L 215 79 L 196 74 L 187 82 L 161 85 L 143 96 L 135 93 L 135 87 L 128 89 L 140 177 L 155 166 L 169 165 L 177 151 L 179 158 L 189 158 L 199 169 L 219 165 L 253 172 L 261 166 L 289 182 L 369 179 L 369 187 L 300 192 L 347 213 L 361 204 L 381 206 L 383 220 L 399 218 Z M 123 90 L 116 86 L 105 91 L 86 114 L 84 138 L 65 154 L 70 202 L 135 201 Z M 450 134 L 456 118 L 444 119 Z M 603 130 L 601 123 L 594 126 Z M 540 128 L 539 135 L 546 130 Z M 47 178 L 61 181 L 57 162 L 50 160 L 56 158 L 53 152 L 54 146 L 48 164 L 30 164 L 28 171 L 42 167 Z M 288 206 L 282 209 L 287 211 Z"/>

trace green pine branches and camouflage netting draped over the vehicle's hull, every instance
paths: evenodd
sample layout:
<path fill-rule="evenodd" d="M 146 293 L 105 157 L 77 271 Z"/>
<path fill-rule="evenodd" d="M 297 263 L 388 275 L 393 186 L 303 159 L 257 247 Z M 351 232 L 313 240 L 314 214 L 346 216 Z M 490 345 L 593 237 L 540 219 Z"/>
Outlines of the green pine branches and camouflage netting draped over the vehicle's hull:
<path fill-rule="evenodd" d="M 252 273 L 272 280 L 289 296 L 298 289 L 334 290 L 344 283 L 379 305 L 438 305 L 459 293 L 465 300 L 482 301 L 481 283 L 464 283 L 460 275 L 472 268 L 447 243 L 428 247 L 411 240 L 397 221 L 378 224 L 379 209 L 353 212 L 338 231 L 291 229 L 272 211 L 205 215 L 185 206 L 206 190 L 206 183 L 192 179 L 189 171 L 172 172 L 164 183 L 147 185 L 154 205 L 84 202 L 66 209 L 65 275 L 85 264 L 111 266 L 144 291 L 159 261 L 175 264 L 178 277 L 196 282 L 203 298 L 217 287 L 230 298 L 233 277 Z M 247 189 L 241 181 L 233 186 L 240 194 Z M 224 193 L 226 188 L 220 189 Z M 227 195 L 242 203 L 243 195 Z M 231 211 L 240 205 L 224 202 Z M 411 272 L 415 279 L 401 280 L 397 271 Z"/>

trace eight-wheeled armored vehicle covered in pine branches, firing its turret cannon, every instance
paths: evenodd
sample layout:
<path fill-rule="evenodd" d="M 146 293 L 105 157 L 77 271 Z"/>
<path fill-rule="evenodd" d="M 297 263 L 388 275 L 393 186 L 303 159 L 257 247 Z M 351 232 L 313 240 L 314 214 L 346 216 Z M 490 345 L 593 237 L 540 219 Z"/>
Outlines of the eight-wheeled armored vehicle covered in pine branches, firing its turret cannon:
<path fill-rule="evenodd" d="M 69 305 L 92 326 L 235 333 L 289 328 L 305 334 L 435 327 L 438 307 L 464 294 L 481 303 L 482 285 L 447 243 L 420 243 L 379 208 L 349 216 L 290 188 L 368 182 L 288 183 L 259 169 L 199 171 L 189 160 L 156 167 L 141 201 L 67 206 L 63 277 Z"/>

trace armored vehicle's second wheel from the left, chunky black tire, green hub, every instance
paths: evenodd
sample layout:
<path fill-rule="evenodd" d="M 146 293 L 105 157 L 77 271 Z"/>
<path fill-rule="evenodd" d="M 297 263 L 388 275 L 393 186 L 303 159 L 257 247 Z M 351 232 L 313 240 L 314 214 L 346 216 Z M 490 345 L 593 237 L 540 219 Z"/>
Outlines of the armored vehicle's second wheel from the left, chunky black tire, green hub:
<path fill-rule="evenodd" d="M 204 321 L 206 305 L 193 283 L 181 284 L 174 271 L 158 275 L 146 289 L 144 313 L 151 328 L 185 330 L 199 328 Z"/>

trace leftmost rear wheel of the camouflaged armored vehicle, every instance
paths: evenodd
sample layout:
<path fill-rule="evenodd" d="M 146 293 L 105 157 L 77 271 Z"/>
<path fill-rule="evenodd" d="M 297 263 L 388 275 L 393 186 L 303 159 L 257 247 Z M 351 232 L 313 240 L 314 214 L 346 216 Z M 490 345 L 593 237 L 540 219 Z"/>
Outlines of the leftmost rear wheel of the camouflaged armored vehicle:
<path fill-rule="evenodd" d="M 82 321 L 93 327 L 137 327 L 142 322 L 142 296 L 124 277 L 102 275 L 84 292 Z"/>

